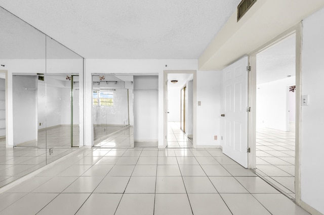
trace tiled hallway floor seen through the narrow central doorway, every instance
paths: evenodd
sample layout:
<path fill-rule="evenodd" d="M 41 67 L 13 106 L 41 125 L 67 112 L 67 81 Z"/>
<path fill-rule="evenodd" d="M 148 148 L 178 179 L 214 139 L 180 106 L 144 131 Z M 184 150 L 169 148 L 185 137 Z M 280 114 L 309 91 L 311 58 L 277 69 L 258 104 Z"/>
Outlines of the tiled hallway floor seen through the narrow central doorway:
<path fill-rule="evenodd" d="M 168 122 L 168 147 L 192 147 L 192 139 L 180 129 L 180 122 Z"/>

